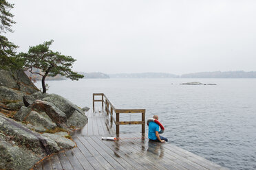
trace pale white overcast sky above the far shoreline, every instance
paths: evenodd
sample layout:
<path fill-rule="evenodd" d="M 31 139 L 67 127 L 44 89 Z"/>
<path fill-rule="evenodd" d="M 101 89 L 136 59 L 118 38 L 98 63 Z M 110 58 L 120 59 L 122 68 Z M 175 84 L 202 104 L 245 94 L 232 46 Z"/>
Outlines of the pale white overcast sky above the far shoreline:
<path fill-rule="evenodd" d="M 54 40 L 75 71 L 256 71 L 255 0 L 17 0 L 18 51 Z"/>

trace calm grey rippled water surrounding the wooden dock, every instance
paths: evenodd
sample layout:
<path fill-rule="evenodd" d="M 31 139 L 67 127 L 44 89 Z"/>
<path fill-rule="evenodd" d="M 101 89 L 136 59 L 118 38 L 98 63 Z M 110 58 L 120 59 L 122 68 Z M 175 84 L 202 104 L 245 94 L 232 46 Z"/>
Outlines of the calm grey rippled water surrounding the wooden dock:
<path fill-rule="evenodd" d="M 188 86 L 184 82 L 215 83 Z M 97 79 L 47 82 L 48 93 L 92 106 L 105 93 L 117 108 L 159 115 L 171 143 L 230 169 L 256 169 L 256 79 Z M 41 87 L 40 83 L 36 84 Z M 138 121 L 135 114 L 121 120 Z M 140 131 L 121 125 L 120 132 Z"/>

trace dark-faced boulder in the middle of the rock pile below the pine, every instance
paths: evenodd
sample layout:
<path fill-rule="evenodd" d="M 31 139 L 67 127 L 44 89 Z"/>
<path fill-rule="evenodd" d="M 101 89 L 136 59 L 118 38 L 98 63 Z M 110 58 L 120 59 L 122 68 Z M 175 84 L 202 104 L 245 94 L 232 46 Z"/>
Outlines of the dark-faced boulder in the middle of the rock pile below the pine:
<path fill-rule="evenodd" d="M 30 105 L 30 108 L 38 112 L 46 112 L 57 125 L 67 123 L 66 114 L 48 101 L 36 100 L 32 105 Z"/>

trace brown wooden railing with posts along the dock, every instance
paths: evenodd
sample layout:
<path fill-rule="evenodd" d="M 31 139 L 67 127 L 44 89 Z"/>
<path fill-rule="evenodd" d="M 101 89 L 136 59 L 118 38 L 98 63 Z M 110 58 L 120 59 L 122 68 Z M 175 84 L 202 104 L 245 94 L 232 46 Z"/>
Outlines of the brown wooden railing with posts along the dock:
<path fill-rule="evenodd" d="M 101 96 L 101 99 L 95 99 L 95 96 Z M 107 99 L 104 93 L 94 93 L 93 94 L 93 110 L 94 110 L 94 102 L 101 101 L 101 106 L 104 109 L 105 104 L 105 111 L 107 115 L 110 115 L 110 122 L 111 124 L 114 122 L 116 124 L 116 134 L 119 134 L 119 125 L 142 125 L 142 134 L 145 134 L 145 109 L 117 109 L 114 107 L 113 104 Z M 116 120 L 113 117 L 114 112 L 116 113 Z M 141 121 L 119 121 L 120 113 L 141 113 Z"/>

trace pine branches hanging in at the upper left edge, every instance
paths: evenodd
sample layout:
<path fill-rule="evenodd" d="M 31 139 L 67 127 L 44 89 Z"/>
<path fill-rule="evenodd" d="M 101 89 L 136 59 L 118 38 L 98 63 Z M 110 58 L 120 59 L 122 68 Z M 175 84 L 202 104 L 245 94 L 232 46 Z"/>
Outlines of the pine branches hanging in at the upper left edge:
<path fill-rule="evenodd" d="M 13 6 L 6 0 L 0 0 L 0 34 L 13 32 L 11 26 L 15 23 L 12 20 L 14 15 L 10 13 Z M 0 35 L 0 69 L 18 69 L 21 67 L 22 62 L 15 57 L 17 47 L 8 41 L 6 36 Z"/>

